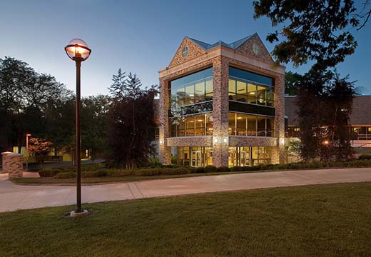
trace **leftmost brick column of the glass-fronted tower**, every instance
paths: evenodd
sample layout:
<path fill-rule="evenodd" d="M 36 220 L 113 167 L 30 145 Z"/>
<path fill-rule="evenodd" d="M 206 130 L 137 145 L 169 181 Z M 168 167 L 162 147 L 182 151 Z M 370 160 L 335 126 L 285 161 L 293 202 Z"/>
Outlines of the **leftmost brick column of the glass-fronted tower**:
<path fill-rule="evenodd" d="M 170 136 L 168 124 L 168 81 L 160 79 L 160 161 L 171 164 L 171 147 L 166 145 L 166 138 Z"/>

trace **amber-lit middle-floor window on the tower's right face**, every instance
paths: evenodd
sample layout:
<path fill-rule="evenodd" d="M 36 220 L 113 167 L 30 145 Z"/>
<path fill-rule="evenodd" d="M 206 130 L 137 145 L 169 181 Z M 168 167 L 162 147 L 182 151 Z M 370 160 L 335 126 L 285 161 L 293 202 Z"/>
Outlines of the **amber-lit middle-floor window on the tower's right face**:
<path fill-rule="evenodd" d="M 250 114 L 228 113 L 231 136 L 275 136 L 274 118 Z"/>

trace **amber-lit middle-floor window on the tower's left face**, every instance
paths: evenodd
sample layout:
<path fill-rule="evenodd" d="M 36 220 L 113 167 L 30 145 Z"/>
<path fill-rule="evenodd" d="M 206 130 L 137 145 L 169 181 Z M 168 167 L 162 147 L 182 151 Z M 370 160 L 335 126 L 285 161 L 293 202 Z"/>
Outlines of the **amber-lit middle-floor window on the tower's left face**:
<path fill-rule="evenodd" d="M 213 116 L 197 114 L 172 118 L 171 136 L 210 136 L 213 135 Z"/>

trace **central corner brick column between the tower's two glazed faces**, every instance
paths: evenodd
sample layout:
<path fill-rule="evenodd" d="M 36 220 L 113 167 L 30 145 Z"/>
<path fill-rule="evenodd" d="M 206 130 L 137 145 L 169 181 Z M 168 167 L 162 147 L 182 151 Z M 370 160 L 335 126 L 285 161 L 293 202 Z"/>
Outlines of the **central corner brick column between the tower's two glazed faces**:
<path fill-rule="evenodd" d="M 228 61 L 223 57 L 213 60 L 213 165 L 228 166 Z"/>

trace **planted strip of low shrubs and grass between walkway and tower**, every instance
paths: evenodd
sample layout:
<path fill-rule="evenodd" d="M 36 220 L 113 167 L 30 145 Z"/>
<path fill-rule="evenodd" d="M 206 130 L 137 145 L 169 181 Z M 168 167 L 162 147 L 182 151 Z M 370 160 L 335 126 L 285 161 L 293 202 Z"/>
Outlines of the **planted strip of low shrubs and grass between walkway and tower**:
<path fill-rule="evenodd" d="M 81 166 L 83 183 L 108 183 L 115 181 L 141 181 L 158 178 L 178 178 L 185 176 L 205 176 L 226 173 L 260 172 L 260 171 L 288 171 L 317 168 L 362 168 L 371 167 L 371 159 L 364 158 L 355 161 L 334 161 L 329 163 L 287 163 L 267 164 L 258 166 L 234 166 L 231 168 L 221 166 L 151 166 L 133 170 L 123 168 L 106 168 L 104 163 Z M 75 183 L 76 167 L 65 166 L 58 168 L 44 168 L 39 171 L 41 178 L 14 178 L 16 183 Z"/>

